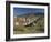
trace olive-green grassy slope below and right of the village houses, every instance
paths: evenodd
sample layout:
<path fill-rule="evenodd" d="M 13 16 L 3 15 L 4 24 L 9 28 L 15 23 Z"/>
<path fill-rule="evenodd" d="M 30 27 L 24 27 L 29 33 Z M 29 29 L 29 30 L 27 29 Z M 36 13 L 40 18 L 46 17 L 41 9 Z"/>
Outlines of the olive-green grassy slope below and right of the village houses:
<path fill-rule="evenodd" d="M 14 34 L 28 34 L 28 33 L 43 33 L 44 32 L 44 17 L 39 15 L 40 19 L 35 21 L 35 25 L 29 25 L 29 27 L 24 27 L 24 25 L 19 25 L 13 28 L 13 33 Z M 33 17 L 32 20 L 34 20 L 35 18 Z"/>

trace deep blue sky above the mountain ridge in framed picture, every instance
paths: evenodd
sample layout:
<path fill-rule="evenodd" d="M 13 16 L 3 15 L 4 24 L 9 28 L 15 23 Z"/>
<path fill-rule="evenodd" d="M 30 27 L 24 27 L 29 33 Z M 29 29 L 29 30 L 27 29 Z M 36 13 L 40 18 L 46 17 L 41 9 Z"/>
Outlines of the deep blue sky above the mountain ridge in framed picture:
<path fill-rule="evenodd" d="M 13 15 L 21 15 L 27 13 L 44 13 L 44 9 L 39 8 L 13 8 Z"/>

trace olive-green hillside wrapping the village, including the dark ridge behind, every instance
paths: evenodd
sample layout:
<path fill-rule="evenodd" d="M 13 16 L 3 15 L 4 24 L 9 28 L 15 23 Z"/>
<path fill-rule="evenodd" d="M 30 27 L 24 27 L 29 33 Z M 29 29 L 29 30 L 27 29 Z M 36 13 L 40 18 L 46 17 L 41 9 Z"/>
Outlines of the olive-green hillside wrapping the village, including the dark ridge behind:
<path fill-rule="evenodd" d="M 44 32 L 44 17 L 43 17 L 43 14 L 39 15 L 39 14 L 30 14 L 29 13 L 29 14 L 20 15 L 20 18 L 21 17 L 30 18 L 31 21 L 37 18 L 38 19 L 27 27 L 14 25 L 14 29 L 13 29 L 14 34 L 43 33 Z M 34 23 L 35 23 L 35 25 L 33 25 Z"/>

